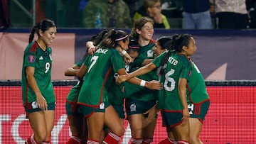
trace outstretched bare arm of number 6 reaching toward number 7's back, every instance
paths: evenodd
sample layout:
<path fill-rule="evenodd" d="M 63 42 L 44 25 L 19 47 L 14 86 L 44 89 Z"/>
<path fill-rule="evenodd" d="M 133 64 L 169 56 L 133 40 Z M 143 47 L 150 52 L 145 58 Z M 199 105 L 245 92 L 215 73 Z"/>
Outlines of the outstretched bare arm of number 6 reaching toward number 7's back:
<path fill-rule="evenodd" d="M 154 63 L 149 63 L 148 65 L 145 65 L 144 67 L 140 67 L 138 70 L 135 70 L 134 72 L 131 72 L 129 74 L 119 74 L 119 77 L 117 77 L 116 82 L 118 84 L 127 81 L 128 79 L 131 79 L 132 77 L 137 77 L 142 74 L 146 74 L 148 72 L 151 72 L 156 68 L 156 65 Z"/>

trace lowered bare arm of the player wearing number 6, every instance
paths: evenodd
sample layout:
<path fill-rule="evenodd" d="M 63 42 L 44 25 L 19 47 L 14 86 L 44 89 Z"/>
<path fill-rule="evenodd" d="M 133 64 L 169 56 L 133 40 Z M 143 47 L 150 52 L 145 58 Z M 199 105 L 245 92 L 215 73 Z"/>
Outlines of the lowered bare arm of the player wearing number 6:
<path fill-rule="evenodd" d="M 183 123 L 185 123 L 188 118 L 189 118 L 189 112 L 188 112 L 188 103 L 186 100 L 186 84 L 187 84 L 187 80 L 184 78 L 180 78 L 178 80 L 178 96 L 181 99 L 181 104 L 183 106 Z"/>

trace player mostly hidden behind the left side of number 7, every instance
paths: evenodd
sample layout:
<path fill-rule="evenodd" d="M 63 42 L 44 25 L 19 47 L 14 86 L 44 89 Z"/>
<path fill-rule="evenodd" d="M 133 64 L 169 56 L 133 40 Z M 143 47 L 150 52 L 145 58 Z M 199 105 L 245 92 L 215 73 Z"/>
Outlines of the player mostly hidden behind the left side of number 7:
<path fill-rule="evenodd" d="M 86 48 L 89 50 L 90 48 L 95 48 L 95 45 L 99 45 L 103 40 L 107 30 L 103 30 L 97 35 L 92 36 L 92 41 L 87 41 Z M 65 76 L 76 76 L 79 72 L 82 63 L 85 61 L 88 52 L 85 52 L 85 55 L 81 58 L 79 62 L 76 62 L 75 65 L 69 67 L 68 70 L 65 71 Z M 70 131 L 72 136 L 67 141 L 66 144 L 79 144 L 86 143 L 87 141 L 87 124 L 85 121 L 85 117 L 82 113 L 78 111 L 78 95 L 80 89 L 82 87 L 83 80 L 81 79 L 69 92 L 67 96 L 67 101 L 65 104 L 66 112 L 68 115 L 68 122 L 70 126 Z"/>

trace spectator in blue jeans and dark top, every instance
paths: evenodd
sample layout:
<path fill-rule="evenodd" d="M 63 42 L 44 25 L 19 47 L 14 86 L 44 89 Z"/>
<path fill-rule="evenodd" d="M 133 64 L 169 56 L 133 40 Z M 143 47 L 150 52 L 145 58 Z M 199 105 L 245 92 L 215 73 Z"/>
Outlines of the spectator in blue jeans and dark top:
<path fill-rule="evenodd" d="M 182 28 L 213 28 L 209 9 L 209 0 L 183 0 Z"/>

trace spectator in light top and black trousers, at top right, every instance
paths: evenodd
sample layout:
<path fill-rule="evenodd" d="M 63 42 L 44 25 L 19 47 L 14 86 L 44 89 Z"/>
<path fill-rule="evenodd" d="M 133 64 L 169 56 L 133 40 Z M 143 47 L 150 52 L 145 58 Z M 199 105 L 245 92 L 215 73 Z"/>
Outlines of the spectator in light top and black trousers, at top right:
<path fill-rule="evenodd" d="M 210 0 L 214 4 L 217 28 L 249 27 L 245 0 Z"/>

